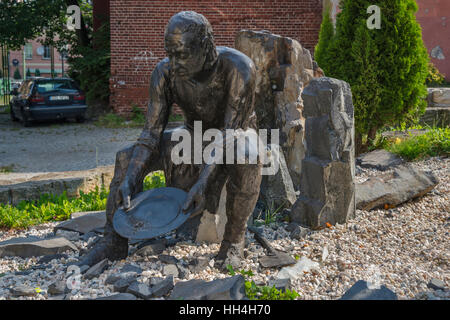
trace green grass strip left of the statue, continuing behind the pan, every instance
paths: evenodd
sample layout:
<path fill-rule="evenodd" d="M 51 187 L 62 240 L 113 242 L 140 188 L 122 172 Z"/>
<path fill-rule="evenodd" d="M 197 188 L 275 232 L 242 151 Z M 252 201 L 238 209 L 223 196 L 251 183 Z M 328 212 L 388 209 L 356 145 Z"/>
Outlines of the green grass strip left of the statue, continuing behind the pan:
<path fill-rule="evenodd" d="M 154 172 L 144 179 L 144 190 L 165 186 L 161 171 Z M 80 191 L 77 198 L 62 195 L 44 194 L 37 201 L 21 201 L 17 206 L 0 204 L 0 228 L 24 229 L 32 225 L 50 221 L 63 221 L 74 212 L 105 210 L 109 191 L 96 188 L 89 193 Z"/>

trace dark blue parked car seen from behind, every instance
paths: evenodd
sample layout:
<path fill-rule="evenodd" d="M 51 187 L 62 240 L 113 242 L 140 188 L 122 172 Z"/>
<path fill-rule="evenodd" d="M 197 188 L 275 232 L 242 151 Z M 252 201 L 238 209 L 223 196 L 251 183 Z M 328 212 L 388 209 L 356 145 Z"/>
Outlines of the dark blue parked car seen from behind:
<path fill-rule="evenodd" d="M 11 119 L 25 127 L 33 120 L 74 118 L 85 120 L 84 92 L 69 78 L 31 78 L 14 92 L 10 102 Z"/>

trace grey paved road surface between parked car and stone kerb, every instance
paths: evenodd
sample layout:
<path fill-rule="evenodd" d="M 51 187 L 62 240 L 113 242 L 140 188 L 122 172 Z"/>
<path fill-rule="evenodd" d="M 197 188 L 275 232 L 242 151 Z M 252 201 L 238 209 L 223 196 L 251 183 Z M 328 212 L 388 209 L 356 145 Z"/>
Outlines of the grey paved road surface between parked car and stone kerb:
<path fill-rule="evenodd" d="M 13 172 L 55 172 L 111 165 L 116 152 L 134 143 L 140 132 L 72 121 L 24 128 L 0 114 L 0 169 L 14 165 Z"/>

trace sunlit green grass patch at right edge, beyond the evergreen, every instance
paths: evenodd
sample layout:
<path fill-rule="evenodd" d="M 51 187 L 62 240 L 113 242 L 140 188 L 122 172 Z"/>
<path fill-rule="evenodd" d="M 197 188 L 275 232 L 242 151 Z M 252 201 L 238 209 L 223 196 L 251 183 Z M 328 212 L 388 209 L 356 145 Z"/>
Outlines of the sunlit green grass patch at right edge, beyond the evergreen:
<path fill-rule="evenodd" d="M 385 149 L 408 161 L 450 155 L 450 128 L 432 128 L 424 134 L 387 143 Z"/>

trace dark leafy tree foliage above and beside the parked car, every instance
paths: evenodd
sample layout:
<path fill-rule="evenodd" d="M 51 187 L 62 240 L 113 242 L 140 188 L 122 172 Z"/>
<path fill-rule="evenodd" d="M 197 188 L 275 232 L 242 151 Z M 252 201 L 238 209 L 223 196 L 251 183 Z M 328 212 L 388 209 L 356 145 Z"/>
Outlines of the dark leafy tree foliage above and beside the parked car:
<path fill-rule="evenodd" d="M 68 74 L 86 92 L 88 103 L 108 104 L 109 98 L 109 26 L 93 30 L 92 1 L 33 0 L 0 2 L 0 43 L 18 50 L 39 37 L 44 45 L 65 52 Z M 67 28 L 67 7 L 81 9 L 81 28 Z M 36 72 L 37 73 L 37 72 Z M 36 74 L 37 75 L 37 74 Z"/>

